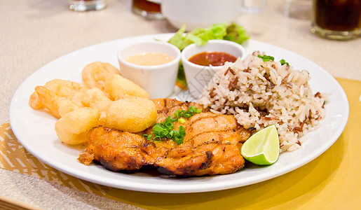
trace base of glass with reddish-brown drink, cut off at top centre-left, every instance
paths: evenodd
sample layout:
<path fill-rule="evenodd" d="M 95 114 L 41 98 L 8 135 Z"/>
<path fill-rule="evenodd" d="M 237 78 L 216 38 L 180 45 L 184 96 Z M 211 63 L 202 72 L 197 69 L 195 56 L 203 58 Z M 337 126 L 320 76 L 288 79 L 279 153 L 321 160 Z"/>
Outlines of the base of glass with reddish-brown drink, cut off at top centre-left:
<path fill-rule="evenodd" d="M 132 12 L 147 19 L 162 20 L 161 0 L 132 0 Z"/>

